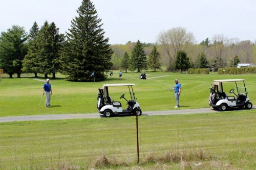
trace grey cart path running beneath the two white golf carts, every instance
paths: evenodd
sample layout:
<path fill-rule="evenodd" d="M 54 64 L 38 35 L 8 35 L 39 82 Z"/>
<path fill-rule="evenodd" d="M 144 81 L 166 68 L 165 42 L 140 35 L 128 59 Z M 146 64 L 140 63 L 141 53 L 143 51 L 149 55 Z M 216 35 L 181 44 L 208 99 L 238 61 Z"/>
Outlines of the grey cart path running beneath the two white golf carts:
<path fill-rule="evenodd" d="M 252 109 L 256 109 L 253 107 Z M 236 110 L 234 110 L 236 111 Z M 240 111 L 246 111 L 240 110 Z M 164 110 L 164 111 L 145 111 L 142 112 L 143 116 L 152 115 L 170 115 L 170 114 L 195 114 L 195 113 L 217 113 L 219 111 L 211 108 L 202 109 L 177 109 L 177 110 Z M 117 115 L 117 116 L 130 116 L 130 115 Z M 28 116 L 7 116 L 0 117 L 0 123 L 14 122 L 14 121 L 30 121 L 30 120 L 61 120 L 61 119 L 74 119 L 74 118 L 101 118 L 103 115 L 99 113 L 84 113 L 84 114 L 47 114 L 47 115 L 28 115 Z"/>

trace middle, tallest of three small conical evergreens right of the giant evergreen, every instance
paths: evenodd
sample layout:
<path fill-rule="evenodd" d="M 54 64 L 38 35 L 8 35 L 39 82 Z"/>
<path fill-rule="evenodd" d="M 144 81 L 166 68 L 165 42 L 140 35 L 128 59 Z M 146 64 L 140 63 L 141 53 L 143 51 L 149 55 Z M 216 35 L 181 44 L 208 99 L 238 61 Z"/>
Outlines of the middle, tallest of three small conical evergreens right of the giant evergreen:
<path fill-rule="evenodd" d="M 141 69 L 147 69 L 146 55 L 144 48 L 139 40 L 136 42 L 131 54 L 130 69 L 138 69 L 138 72 L 140 72 Z"/>

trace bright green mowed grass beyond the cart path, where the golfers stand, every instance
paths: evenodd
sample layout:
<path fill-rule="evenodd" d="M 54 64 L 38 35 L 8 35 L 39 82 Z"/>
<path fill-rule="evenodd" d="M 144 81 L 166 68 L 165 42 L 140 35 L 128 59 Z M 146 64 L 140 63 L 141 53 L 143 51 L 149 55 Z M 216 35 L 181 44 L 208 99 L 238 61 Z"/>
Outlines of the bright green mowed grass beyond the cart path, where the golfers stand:
<path fill-rule="evenodd" d="M 0 116 L 12 115 L 38 115 L 61 113 L 97 113 L 96 97 L 98 88 L 105 83 L 134 83 L 137 101 L 143 111 L 172 110 L 176 105 L 173 91 L 168 90 L 174 85 L 174 79 L 179 79 L 182 84 L 180 96 L 180 109 L 205 108 L 208 106 L 209 87 L 216 79 L 246 79 L 247 90 L 252 104 L 256 103 L 256 77 L 255 75 L 188 75 L 173 72 L 147 72 L 148 80 L 139 80 L 139 73 L 123 73 L 123 79 L 118 79 L 118 71 L 114 72 L 113 79 L 104 82 L 68 82 L 63 76 L 51 80 L 53 88 L 52 107 L 45 108 L 44 100 L 38 106 L 42 96 L 44 82 L 32 78 L 9 79 L 3 78 L 0 83 Z M 5 75 L 7 77 L 7 75 Z M 27 75 L 22 75 L 27 76 Z M 39 78 L 44 80 L 42 78 Z M 231 86 L 225 86 L 229 91 Z M 110 89 L 112 98 L 121 101 L 126 106 L 124 99 L 119 99 L 122 93 L 129 96 L 127 88 Z"/>

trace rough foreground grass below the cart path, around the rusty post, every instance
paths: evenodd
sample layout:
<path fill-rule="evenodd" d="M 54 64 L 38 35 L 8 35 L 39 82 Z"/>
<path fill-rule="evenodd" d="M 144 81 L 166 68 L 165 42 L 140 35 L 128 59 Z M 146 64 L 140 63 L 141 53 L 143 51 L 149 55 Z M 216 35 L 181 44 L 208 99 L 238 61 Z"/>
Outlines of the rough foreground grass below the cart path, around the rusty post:
<path fill-rule="evenodd" d="M 255 110 L 140 116 L 139 165 L 135 125 L 133 116 L 2 123 L 0 169 L 88 169 L 102 153 L 119 165 L 107 169 L 256 168 Z"/>

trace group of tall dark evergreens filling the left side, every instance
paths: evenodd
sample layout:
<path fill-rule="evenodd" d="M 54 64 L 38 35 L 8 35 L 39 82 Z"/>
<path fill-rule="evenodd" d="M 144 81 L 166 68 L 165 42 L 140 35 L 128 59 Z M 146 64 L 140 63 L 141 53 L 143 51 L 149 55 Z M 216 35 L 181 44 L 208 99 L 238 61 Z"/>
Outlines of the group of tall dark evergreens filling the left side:
<path fill-rule="evenodd" d="M 66 34 L 60 34 L 54 22 L 39 28 L 34 22 L 29 34 L 23 27 L 12 26 L 0 36 L 0 67 L 12 78 L 22 72 L 67 75 L 70 81 L 103 80 L 112 66 L 109 38 L 104 37 L 101 19 L 90 0 L 83 0 L 78 16 Z"/>

